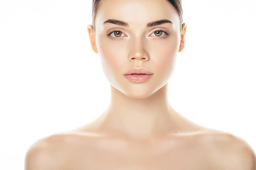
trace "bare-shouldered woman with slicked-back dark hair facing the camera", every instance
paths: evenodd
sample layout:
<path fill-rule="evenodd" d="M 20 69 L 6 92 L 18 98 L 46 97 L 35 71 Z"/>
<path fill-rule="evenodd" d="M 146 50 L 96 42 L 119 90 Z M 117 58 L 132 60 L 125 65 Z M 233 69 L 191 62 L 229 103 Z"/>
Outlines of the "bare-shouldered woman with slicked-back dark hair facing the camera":
<path fill-rule="evenodd" d="M 94 1 L 88 32 L 110 105 L 90 124 L 33 144 L 25 169 L 256 169 L 245 141 L 191 122 L 168 102 L 185 45 L 182 14 L 181 1 Z"/>

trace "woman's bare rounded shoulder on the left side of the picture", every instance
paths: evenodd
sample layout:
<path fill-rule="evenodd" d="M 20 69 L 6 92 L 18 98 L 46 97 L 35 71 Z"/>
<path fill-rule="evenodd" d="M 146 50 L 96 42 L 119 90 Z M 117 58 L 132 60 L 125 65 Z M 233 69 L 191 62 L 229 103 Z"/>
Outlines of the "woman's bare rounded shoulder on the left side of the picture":
<path fill-rule="evenodd" d="M 58 133 L 39 139 L 30 146 L 25 157 L 25 169 L 61 169 L 75 145 L 77 135 Z M 78 141 L 78 140 L 77 140 Z"/>

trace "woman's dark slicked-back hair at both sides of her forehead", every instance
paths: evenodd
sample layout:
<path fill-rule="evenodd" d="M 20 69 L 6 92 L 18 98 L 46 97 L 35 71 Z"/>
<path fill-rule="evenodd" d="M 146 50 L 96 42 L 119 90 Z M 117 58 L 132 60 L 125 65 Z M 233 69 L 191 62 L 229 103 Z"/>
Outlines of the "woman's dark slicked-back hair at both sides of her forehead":
<path fill-rule="evenodd" d="M 182 1 L 181 0 L 165 0 L 165 1 L 170 3 L 175 8 L 176 12 L 180 16 L 180 25 L 182 28 L 182 23 L 183 23 Z M 93 0 L 93 30 L 95 30 L 95 18 L 100 8 L 100 2 L 101 0 Z"/>

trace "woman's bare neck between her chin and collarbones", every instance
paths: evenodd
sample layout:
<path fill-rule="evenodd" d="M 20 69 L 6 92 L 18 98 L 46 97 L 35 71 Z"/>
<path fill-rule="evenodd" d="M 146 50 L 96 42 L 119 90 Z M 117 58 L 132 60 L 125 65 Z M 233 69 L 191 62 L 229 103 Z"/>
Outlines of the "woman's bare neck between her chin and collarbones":
<path fill-rule="evenodd" d="M 111 102 L 102 116 L 104 129 L 133 137 L 152 136 L 170 129 L 174 109 L 167 97 L 167 84 L 146 98 L 129 98 L 111 86 Z"/>

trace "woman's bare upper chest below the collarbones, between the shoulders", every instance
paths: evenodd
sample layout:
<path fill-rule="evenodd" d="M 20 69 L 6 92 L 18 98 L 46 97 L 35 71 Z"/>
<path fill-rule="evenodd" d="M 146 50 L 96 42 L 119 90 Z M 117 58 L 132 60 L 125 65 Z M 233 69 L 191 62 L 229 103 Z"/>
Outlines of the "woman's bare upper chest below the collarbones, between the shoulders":
<path fill-rule="evenodd" d="M 199 146 L 120 143 L 81 147 L 70 154 L 69 169 L 211 169 Z M 71 168 L 72 167 L 72 168 Z"/>

